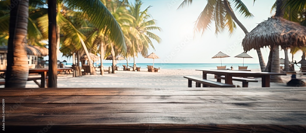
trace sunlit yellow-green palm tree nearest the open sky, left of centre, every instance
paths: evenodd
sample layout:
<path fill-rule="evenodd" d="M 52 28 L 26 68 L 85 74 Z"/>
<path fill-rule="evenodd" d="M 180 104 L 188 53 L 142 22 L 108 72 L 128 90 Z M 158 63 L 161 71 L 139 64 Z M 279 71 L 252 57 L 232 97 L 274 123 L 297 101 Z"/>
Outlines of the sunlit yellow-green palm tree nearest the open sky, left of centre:
<path fill-rule="evenodd" d="M 149 47 L 153 47 L 155 50 L 152 40 L 156 40 L 158 43 L 161 42 L 161 38 L 158 37 L 156 34 L 150 32 L 150 30 L 161 30 L 160 27 L 157 27 L 155 25 L 155 20 L 150 19 L 151 16 L 147 14 L 148 9 L 151 7 L 147 7 L 144 11 L 140 11 L 140 7 L 142 5 L 142 2 L 140 0 L 136 0 L 135 4 L 131 4 L 129 6 L 129 14 L 133 17 L 132 23 L 129 23 L 129 35 L 127 37 L 131 37 L 129 40 L 130 42 L 130 48 L 129 48 L 129 53 L 126 55 L 132 56 L 134 58 L 134 67 L 133 71 L 136 70 L 136 61 L 135 57 L 138 56 L 138 53 L 140 53 L 142 56 L 147 56 L 147 50 Z M 125 27 L 123 26 L 123 27 Z M 127 28 L 128 28 L 127 27 Z M 134 39 L 133 39 L 134 38 Z"/>

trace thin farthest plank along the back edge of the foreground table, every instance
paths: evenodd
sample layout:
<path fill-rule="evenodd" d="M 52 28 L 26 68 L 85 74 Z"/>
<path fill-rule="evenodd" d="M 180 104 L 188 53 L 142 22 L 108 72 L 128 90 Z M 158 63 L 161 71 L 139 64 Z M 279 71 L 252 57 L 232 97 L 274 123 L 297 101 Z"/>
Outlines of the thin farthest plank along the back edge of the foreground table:
<path fill-rule="evenodd" d="M 114 91 L 131 91 L 131 90 L 172 90 L 172 91 L 193 91 L 193 90 L 220 90 L 220 91 L 306 91 L 306 87 L 282 87 L 282 88 L 0 88 L 3 91 L 96 91 L 96 90 L 114 90 Z M 1 95 L 1 94 L 0 94 Z"/>

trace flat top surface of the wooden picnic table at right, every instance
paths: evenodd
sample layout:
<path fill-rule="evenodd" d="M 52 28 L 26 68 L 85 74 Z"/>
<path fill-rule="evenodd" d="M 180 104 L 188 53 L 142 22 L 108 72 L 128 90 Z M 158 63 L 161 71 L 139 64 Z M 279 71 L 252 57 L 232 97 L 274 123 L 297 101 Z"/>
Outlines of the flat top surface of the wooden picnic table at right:
<path fill-rule="evenodd" d="M 286 73 L 277 72 L 252 72 L 252 71 L 241 71 L 241 70 L 196 70 L 208 72 L 211 74 L 231 74 L 231 75 L 286 75 Z"/>

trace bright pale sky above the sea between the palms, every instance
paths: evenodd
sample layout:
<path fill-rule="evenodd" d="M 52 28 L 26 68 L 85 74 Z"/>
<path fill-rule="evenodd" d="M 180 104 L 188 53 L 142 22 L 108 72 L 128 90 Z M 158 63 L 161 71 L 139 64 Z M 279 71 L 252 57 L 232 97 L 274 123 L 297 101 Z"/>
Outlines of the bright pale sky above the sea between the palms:
<path fill-rule="evenodd" d="M 249 11 L 254 17 L 245 19 L 240 17 L 238 12 L 235 12 L 237 18 L 241 23 L 251 31 L 258 23 L 267 20 L 271 17 L 271 7 L 275 0 L 261 0 L 256 1 L 253 6 L 252 0 L 242 0 L 248 7 Z M 242 63 L 242 58 L 234 58 L 234 56 L 241 54 L 244 50 L 241 46 L 244 32 L 237 25 L 237 29 L 232 36 L 229 36 L 227 31 L 215 35 L 214 24 L 211 25 L 211 30 L 205 31 L 201 36 L 197 33 L 194 36 L 194 22 L 203 11 L 207 0 L 193 1 L 188 8 L 179 9 L 179 5 L 183 0 L 143 0 L 142 10 L 149 5 L 149 13 L 153 19 L 157 20 L 157 26 L 162 28 L 162 31 L 154 32 L 162 38 L 162 42 L 158 44 L 154 42 L 155 51 L 153 48 L 149 50 L 149 54 L 154 52 L 160 59 L 155 59 L 155 63 L 220 63 L 220 59 L 212 59 L 215 54 L 222 51 L 231 57 L 223 58 L 222 63 Z M 274 14 L 274 12 L 273 12 Z M 247 52 L 253 58 L 245 59 L 244 63 L 258 64 L 258 56 L 255 50 Z M 280 58 L 285 58 L 284 52 L 280 52 Z M 263 58 L 267 63 L 269 49 L 262 50 Z M 294 55 L 294 60 L 300 61 L 301 52 Z M 289 60 L 292 56 L 289 54 Z M 118 63 L 125 63 L 126 61 L 119 61 Z M 131 58 L 129 63 L 132 63 Z M 136 63 L 151 63 L 152 59 L 138 57 Z M 104 61 L 104 63 L 111 63 L 111 61 Z"/>

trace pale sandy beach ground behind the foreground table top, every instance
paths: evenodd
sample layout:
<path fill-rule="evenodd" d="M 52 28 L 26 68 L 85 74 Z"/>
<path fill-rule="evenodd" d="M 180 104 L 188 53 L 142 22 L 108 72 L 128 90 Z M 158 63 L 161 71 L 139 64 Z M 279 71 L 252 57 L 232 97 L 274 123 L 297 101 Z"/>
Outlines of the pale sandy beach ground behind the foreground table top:
<path fill-rule="evenodd" d="M 83 75 L 82 77 L 71 77 L 71 75 L 59 75 L 58 87 L 187 87 L 188 80 L 184 75 L 202 77 L 201 71 L 186 69 L 161 69 L 159 72 L 140 72 L 116 71 L 116 74 L 105 73 L 101 75 Z M 253 70 L 252 70 L 253 71 Z M 257 70 L 254 70 L 257 71 Z M 298 79 L 305 81 L 306 76 L 297 75 Z M 214 75 L 207 75 L 207 79 L 216 81 Z M 282 76 L 284 83 L 271 82 L 271 87 L 286 87 L 286 83 L 291 79 L 291 75 Z M 261 87 L 261 78 L 259 82 L 250 82 L 249 87 Z M 40 82 L 38 80 L 38 82 Z M 224 80 L 222 79 L 222 82 Z M 233 81 L 235 86 L 242 86 L 242 82 Z M 195 86 L 193 83 L 192 86 Z M 4 86 L 0 86 L 4 87 Z M 27 88 L 38 87 L 33 81 L 28 81 Z"/>

